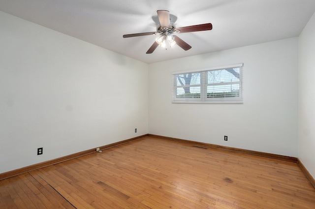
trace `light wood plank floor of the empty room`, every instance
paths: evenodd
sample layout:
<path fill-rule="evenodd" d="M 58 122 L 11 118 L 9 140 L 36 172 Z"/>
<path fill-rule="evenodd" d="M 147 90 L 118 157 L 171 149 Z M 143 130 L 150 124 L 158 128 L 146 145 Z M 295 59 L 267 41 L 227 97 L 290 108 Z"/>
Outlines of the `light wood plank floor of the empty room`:
<path fill-rule="evenodd" d="M 315 209 L 294 162 L 145 137 L 0 181 L 0 209 Z"/>

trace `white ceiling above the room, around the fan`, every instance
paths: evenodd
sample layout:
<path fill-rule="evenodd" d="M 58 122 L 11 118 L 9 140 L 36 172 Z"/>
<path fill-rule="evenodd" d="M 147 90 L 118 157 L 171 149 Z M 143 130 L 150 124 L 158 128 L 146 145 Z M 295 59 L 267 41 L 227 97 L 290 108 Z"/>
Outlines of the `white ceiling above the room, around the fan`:
<path fill-rule="evenodd" d="M 157 10 L 169 10 L 176 27 L 212 23 L 213 30 L 179 33 L 192 48 L 158 47 L 146 54 L 156 31 Z M 0 10 L 152 63 L 298 36 L 315 0 L 0 0 Z"/>

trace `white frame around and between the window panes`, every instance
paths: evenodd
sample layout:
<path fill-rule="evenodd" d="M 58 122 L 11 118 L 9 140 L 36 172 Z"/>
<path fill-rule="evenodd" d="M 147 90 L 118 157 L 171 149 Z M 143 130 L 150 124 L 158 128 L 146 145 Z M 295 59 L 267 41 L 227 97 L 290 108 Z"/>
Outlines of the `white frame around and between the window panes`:
<path fill-rule="evenodd" d="M 207 75 L 209 71 L 222 70 L 222 69 L 230 69 L 230 68 L 240 68 L 239 72 L 239 81 L 238 82 L 228 82 L 224 83 L 226 85 L 239 84 L 239 96 L 238 97 L 220 97 L 220 98 L 207 98 L 207 87 L 208 86 L 216 86 L 222 85 L 218 84 L 208 84 Z M 177 86 L 177 76 L 181 74 L 188 73 L 198 73 L 200 72 L 200 85 L 189 85 L 187 87 L 195 87 L 200 86 L 200 98 L 177 98 L 176 90 L 179 88 Z M 231 64 L 219 67 L 210 67 L 205 69 L 195 69 L 195 70 L 186 70 L 186 71 L 177 71 L 172 72 L 173 77 L 173 85 L 172 85 L 172 102 L 173 103 L 210 103 L 210 104 L 218 104 L 218 103 L 235 103 L 235 104 L 243 104 L 243 63 Z M 181 86 L 183 88 L 185 86 Z"/>

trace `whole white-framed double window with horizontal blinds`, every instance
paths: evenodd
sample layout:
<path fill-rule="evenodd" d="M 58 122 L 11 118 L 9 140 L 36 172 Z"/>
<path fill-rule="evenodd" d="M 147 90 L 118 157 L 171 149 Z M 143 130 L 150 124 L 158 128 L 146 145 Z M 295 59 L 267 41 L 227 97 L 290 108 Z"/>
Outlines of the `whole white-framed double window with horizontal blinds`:
<path fill-rule="evenodd" d="M 173 73 L 174 103 L 242 103 L 243 63 Z"/>

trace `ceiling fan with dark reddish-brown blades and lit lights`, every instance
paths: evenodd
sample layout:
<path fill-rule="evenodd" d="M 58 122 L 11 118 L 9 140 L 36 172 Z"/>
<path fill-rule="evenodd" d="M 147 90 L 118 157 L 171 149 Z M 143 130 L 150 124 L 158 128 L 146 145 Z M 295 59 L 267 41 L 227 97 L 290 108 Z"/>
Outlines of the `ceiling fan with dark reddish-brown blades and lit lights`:
<path fill-rule="evenodd" d="M 142 35 L 159 35 L 156 38 L 156 41 L 152 44 L 149 50 L 146 52 L 147 54 L 152 54 L 154 50 L 160 45 L 161 47 L 171 47 L 175 44 L 180 46 L 185 51 L 191 49 L 191 46 L 180 39 L 177 35 L 173 33 L 184 33 L 184 32 L 195 32 L 202 30 L 212 30 L 212 24 L 206 23 L 201 25 L 187 26 L 182 28 L 175 28 L 174 23 L 170 22 L 169 11 L 167 10 L 158 10 L 158 20 L 159 24 L 157 26 L 156 32 L 141 32 L 141 33 L 132 33 L 123 35 L 124 38 L 142 36 Z"/>

